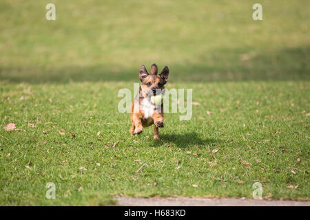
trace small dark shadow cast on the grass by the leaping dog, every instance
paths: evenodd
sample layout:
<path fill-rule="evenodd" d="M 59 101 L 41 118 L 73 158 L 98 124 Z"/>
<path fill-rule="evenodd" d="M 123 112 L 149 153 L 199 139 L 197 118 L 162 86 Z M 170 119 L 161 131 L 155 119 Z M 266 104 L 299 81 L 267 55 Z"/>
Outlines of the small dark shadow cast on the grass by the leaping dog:
<path fill-rule="evenodd" d="M 214 139 L 201 139 L 198 133 L 173 133 L 173 134 L 160 134 L 160 140 L 154 140 L 156 143 L 165 145 L 176 144 L 180 148 L 188 148 L 190 146 L 205 147 L 209 144 L 218 143 L 219 140 Z"/>

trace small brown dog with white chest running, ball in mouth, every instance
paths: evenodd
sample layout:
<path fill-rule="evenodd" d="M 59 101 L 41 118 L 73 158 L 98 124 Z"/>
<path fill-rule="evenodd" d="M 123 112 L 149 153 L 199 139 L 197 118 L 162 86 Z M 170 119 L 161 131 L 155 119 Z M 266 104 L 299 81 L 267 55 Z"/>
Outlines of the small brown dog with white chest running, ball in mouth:
<path fill-rule="evenodd" d="M 150 73 L 147 73 L 145 65 L 140 67 L 139 79 L 142 84 L 130 107 L 131 135 L 138 135 L 143 131 L 143 128 L 154 124 L 154 139 L 159 139 L 158 128 L 164 126 L 163 103 L 153 104 L 151 98 L 158 93 L 165 92 L 169 68 L 165 66 L 159 75 L 157 75 L 157 71 L 155 63 L 152 65 Z"/>

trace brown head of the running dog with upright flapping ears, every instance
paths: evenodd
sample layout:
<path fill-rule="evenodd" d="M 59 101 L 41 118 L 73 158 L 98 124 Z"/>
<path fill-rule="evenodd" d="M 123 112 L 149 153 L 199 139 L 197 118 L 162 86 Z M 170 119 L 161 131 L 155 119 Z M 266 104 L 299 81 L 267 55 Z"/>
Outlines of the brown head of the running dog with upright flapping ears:
<path fill-rule="evenodd" d="M 155 95 L 164 93 L 165 84 L 168 81 L 169 69 L 165 66 L 159 75 L 157 75 L 157 71 L 158 68 L 155 63 L 152 65 L 150 73 L 147 73 L 144 65 L 140 67 L 139 79 L 142 82 L 141 91 L 143 91 L 143 94 Z"/>

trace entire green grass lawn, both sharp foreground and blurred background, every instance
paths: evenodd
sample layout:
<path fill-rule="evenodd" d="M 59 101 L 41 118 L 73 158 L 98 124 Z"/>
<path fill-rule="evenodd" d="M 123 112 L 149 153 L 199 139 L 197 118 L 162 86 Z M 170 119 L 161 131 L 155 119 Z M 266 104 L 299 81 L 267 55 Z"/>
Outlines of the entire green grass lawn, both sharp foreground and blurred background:
<path fill-rule="evenodd" d="M 50 1 L 0 3 L 1 205 L 252 198 L 256 181 L 264 199 L 309 201 L 307 1 L 264 1 L 264 21 L 256 1 L 52 2 L 56 21 Z M 117 111 L 152 63 L 199 103 L 189 121 L 167 113 L 158 141 Z"/>

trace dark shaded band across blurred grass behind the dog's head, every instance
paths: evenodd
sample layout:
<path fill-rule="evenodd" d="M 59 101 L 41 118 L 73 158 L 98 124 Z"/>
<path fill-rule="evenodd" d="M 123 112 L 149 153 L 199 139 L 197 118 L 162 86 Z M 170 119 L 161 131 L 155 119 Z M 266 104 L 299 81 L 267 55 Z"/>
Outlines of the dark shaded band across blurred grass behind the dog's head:
<path fill-rule="evenodd" d="M 258 52 L 254 50 L 234 49 L 217 50 L 210 54 L 197 54 L 192 63 L 179 61 L 163 63 L 92 66 L 54 66 L 54 67 L 19 67 L 0 66 L 0 80 L 11 83 L 70 83 L 70 82 L 105 82 L 136 81 L 138 69 L 145 64 L 147 69 L 154 62 L 158 67 L 168 65 L 169 81 L 173 82 L 212 82 L 242 80 L 310 80 L 310 47 L 296 47 L 279 51 Z"/>

